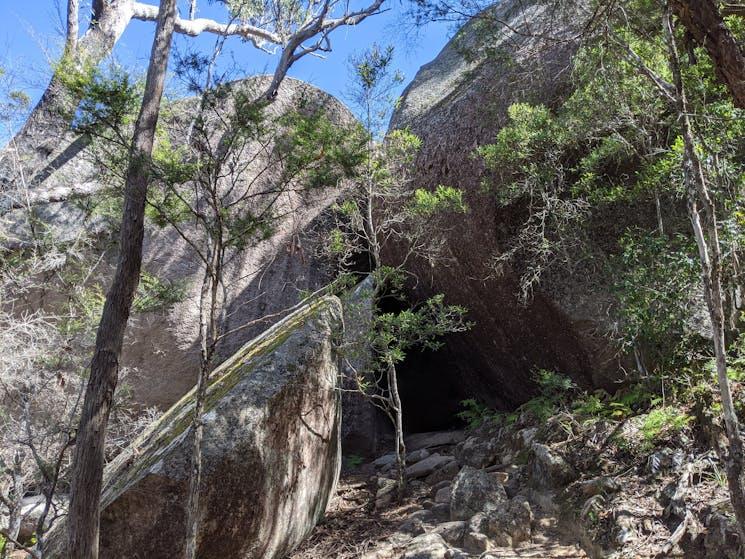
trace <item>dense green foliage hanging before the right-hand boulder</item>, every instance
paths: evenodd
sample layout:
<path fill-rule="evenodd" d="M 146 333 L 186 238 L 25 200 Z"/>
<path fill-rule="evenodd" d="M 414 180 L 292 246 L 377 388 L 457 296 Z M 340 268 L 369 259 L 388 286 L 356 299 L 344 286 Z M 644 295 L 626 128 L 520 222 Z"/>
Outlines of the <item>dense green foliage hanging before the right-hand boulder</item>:
<path fill-rule="evenodd" d="M 562 273 L 572 273 L 578 261 L 602 267 L 616 296 L 619 326 L 610 335 L 622 351 L 636 354 L 642 370 L 670 371 L 703 347 L 692 333 L 701 280 L 682 204 L 683 142 L 668 100 L 620 46 L 626 43 L 670 81 L 660 6 L 634 0 L 622 12 L 608 12 L 609 34 L 586 41 L 573 59 L 566 98 L 550 108 L 512 105 L 506 125 L 475 156 L 485 164 L 483 183 L 497 203 L 519 203 L 529 214 L 510 232 L 496 271 L 509 261 L 525 296 L 552 266 L 563 266 Z M 705 50 L 682 34 L 678 39 L 688 47 L 683 78 L 717 204 L 723 277 L 734 290 L 735 257 L 741 259 L 745 241 L 745 119 Z"/>

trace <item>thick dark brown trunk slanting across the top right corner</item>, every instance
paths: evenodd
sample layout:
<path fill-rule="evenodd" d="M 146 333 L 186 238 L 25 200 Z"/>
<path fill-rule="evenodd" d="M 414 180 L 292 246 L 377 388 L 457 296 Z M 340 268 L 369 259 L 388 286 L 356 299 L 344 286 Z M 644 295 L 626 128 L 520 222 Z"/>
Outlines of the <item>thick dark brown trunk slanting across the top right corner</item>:
<path fill-rule="evenodd" d="M 745 54 L 713 0 L 674 0 L 675 14 L 709 53 L 737 107 L 745 108 Z"/>

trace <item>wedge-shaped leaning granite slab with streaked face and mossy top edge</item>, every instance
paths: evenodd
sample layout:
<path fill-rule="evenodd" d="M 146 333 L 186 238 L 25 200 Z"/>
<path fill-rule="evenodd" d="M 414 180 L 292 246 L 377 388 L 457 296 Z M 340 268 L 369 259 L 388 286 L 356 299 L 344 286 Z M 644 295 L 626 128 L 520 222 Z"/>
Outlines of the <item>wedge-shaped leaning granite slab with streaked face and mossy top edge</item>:
<path fill-rule="evenodd" d="M 200 559 L 284 557 L 324 514 L 341 464 L 341 313 L 337 298 L 318 299 L 213 373 L 203 416 Z M 102 558 L 183 554 L 193 406 L 194 391 L 106 468 Z M 64 533 L 64 525 L 56 529 Z"/>

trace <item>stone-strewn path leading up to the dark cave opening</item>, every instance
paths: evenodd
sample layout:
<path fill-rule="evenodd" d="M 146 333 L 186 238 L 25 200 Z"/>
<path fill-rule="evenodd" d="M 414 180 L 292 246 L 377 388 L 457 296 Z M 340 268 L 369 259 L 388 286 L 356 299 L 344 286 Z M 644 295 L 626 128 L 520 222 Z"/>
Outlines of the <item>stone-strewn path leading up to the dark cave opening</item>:
<path fill-rule="evenodd" d="M 325 521 L 291 559 L 588 557 L 522 470 L 477 468 L 491 453 L 459 431 L 410 437 L 410 491 L 395 502 L 393 456 L 342 477 Z M 486 451 L 489 456 L 481 456 Z"/>

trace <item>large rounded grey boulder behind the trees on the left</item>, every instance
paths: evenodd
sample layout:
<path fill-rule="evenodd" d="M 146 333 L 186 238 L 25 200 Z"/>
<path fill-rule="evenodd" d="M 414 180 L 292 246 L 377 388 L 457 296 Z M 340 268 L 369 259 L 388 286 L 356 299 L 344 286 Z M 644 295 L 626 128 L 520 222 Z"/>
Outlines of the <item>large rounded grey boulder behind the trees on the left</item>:
<path fill-rule="evenodd" d="M 267 79 L 270 77 L 249 78 L 231 87 L 251 94 L 262 90 Z M 230 103 L 230 99 L 226 97 L 223 103 Z M 186 137 L 190 121 L 172 115 L 188 116 L 190 110 L 196 110 L 198 102 L 198 99 L 182 100 L 177 106 L 183 110 L 164 111 L 163 126 L 171 132 L 176 145 Z M 291 78 L 282 84 L 269 109 L 273 115 L 270 118 L 280 119 L 292 110 L 316 108 L 339 126 L 356 123 L 349 110 L 335 98 Z M 101 206 L 96 206 L 106 184 L 102 184 L 105 181 L 94 164 L 92 151 L 93 147 L 85 142 L 72 142 L 64 150 L 64 157 L 40 173 L 45 178 L 33 186 L 30 200 L 37 232 L 43 231 L 48 238 L 67 243 L 79 253 L 87 251 L 92 267 L 87 283 L 97 284 L 100 293 L 104 293 L 116 264 L 117 235 L 116 231 L 107 229 L 106 216 L 102 216 Z M 266 151 L 271 151 L 271 146 Z M 241 180 L 258 181 L 257 189 L 271 190 L 265 187 L 271 187 L 276 177 L 264 172 L 264 156 L 255 160 L 252 157 L 252 151 L 246 150 Z M 218 347 L 218 362 L 276 322 L 303 294 L 318 290 L 333 278 L 335 270 L 321 256 L 319 246 L 329 226 L 324 211 L 343 190 L 344 185 L 333 184 L 297 188 L 282 194 L 274 209 L 284 217 L 275 224 L 274 234 L 230 259 L 222 293 L 226 307 L 222 328 L 232 333 Z M 28 217 L 25 208 L 0 209 L 0 247 L 22 246 L 28 240 L 32 223 Z M 60 259 L 64 263 L 65 255 L 60 254 Z M 178 287 L 182 294 L 178 301 L 157 311 L 135 309 L 128 324 L 121 365 L 128 370 L 127 384 L 133 402 L 166 409 L 194 385 L 199 369 L 198 302 L 202 266 L 193 248 L 173 228 L 160 228 L 147 220 L 143 269 L 163 284 Z M 49 285 L 48 292 L 29 301 L 29 308 L 23 310 L 33 312 L 46 306 L 51 314 L 64 314 L 59 308 L 64 309 L 68 294 L 57 290 L 53 282 Z M 257 321 L 262 317 L 268 319 Z M 89 352 L 90 348 L 84 348 L 82 353 L 87 356 Z"/>

